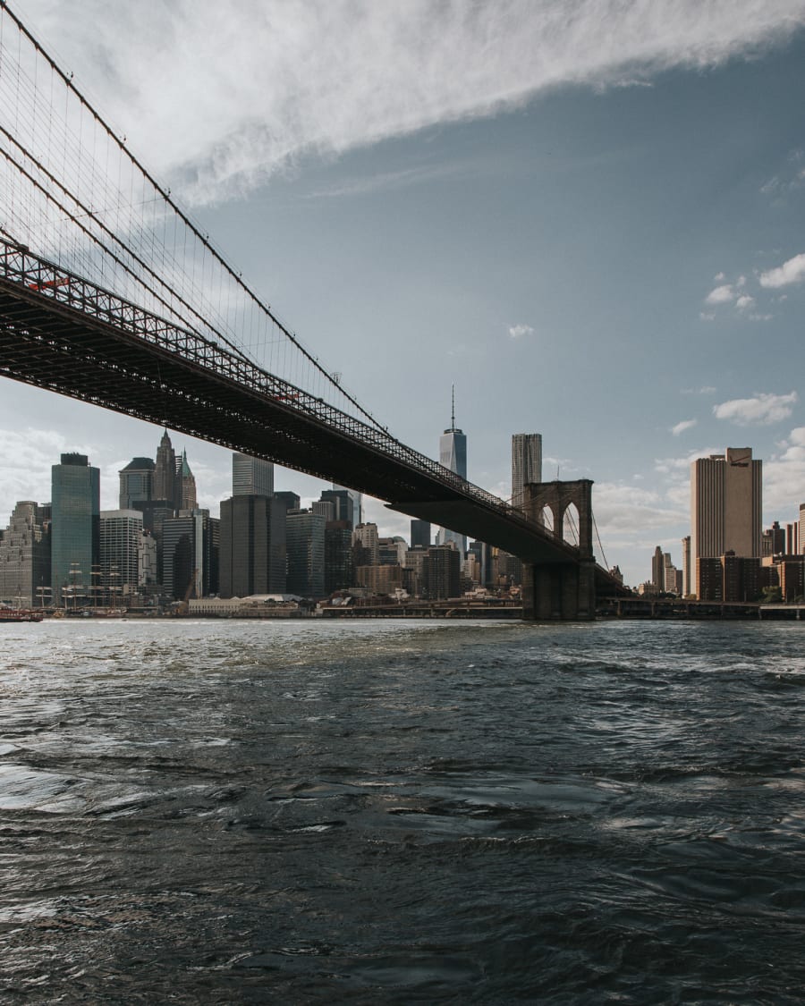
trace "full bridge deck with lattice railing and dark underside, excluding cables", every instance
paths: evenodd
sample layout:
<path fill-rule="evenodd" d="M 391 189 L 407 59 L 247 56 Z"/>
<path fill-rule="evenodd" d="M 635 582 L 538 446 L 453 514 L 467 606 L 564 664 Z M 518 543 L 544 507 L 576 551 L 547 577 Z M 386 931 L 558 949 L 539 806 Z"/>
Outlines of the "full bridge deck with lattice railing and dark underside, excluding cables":
<path fill-rule="evenodd" d="M 4 240 L 0 374 L 348 486 L 528 562 L 579 562 L 574 546 L 380 428 Z M 596 567 L 597 593 L 618 585 Z"/>

